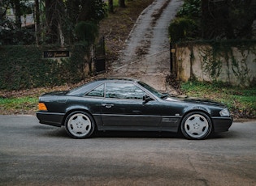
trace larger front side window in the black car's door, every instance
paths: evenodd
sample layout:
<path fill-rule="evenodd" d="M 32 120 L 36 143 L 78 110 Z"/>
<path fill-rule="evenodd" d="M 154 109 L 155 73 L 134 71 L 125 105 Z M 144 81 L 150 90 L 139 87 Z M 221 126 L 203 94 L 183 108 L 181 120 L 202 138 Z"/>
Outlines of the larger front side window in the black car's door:
<path fill-rule="evenodd" d="M 106 83 L 106 98 L 143 99 L 145 92 L 132 83 Z"/>

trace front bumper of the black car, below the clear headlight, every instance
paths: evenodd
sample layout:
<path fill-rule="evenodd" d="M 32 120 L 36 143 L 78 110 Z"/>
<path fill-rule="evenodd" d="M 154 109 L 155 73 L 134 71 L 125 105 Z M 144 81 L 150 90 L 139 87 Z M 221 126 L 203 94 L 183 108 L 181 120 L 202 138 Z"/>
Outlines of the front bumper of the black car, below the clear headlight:
<path fill-rule="evenodd" d="M 228 131 L 232 125 L 232 117 L 212 117 L 215 133 Z"/>

